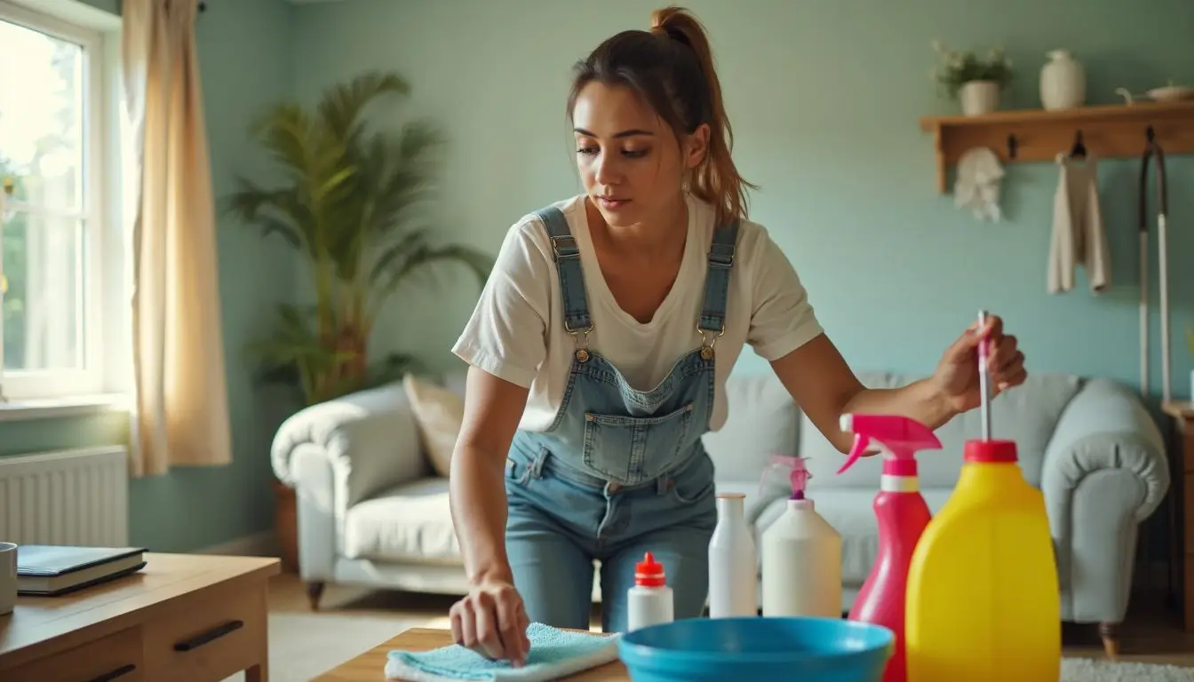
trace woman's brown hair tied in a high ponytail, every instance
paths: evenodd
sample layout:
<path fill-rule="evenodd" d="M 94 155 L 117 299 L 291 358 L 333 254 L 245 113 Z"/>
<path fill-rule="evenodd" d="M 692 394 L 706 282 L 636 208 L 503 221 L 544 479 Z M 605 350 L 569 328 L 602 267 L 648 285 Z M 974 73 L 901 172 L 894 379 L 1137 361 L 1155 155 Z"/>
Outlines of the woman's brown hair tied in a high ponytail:
<path fill-rule="evenodd" d="M 676 134 L 702 123 L 710 129 L 708 152 L 694 170 L 690 190 L 713 204 L 716 225 L 746 216 L 746 189 L 731 149 L 733 130 L 721 102 L 721 82 L 704 27 L 690 12 L 666 7 L 651 13 L 650 31 L 622 31 L 577 62 L 568 115 L 590 82 L 624 85 L 636 91 Z"/>

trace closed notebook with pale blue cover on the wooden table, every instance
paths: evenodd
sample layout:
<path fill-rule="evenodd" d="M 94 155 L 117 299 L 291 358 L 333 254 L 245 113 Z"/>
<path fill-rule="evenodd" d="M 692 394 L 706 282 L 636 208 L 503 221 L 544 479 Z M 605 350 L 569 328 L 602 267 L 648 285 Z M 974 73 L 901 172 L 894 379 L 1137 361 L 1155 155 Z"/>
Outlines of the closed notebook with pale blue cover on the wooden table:
<path fill-rule="evenodd" d="M 17 594 L 55 596 L 135 573 L 144 567 L 144 547 L 17 547 Z"/>

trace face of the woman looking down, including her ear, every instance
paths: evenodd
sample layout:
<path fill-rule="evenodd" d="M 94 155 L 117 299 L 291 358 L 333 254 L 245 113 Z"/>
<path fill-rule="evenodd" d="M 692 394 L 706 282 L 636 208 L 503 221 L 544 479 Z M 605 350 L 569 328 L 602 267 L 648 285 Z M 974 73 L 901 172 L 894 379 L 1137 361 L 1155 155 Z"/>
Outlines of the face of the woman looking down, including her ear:
<path fill-rule="evenodd" d="M 626 86 L 591 82 L 572 110 L 577 167 L 585 192 L 610 226 L 665 220 L 685 173 L 704 155 L 708 125 L 681 145 L 667 124 Z"/>

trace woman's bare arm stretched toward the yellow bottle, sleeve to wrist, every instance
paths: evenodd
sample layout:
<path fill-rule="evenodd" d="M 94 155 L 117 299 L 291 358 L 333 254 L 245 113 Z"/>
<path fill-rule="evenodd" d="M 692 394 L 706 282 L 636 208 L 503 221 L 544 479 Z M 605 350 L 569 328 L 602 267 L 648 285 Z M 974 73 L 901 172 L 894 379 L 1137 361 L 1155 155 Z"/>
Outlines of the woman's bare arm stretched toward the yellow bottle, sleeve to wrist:
<path fill-rule="evenodd" d="M 930 429 L 956 414 L 931 379 L 900 388 L 866 388 L 824 333 L 773 361 L 771 368 L 800 410 L 842 453 L 854 444 L 854 435 L 838 426 L 844 413 L 903 414 Z"/>

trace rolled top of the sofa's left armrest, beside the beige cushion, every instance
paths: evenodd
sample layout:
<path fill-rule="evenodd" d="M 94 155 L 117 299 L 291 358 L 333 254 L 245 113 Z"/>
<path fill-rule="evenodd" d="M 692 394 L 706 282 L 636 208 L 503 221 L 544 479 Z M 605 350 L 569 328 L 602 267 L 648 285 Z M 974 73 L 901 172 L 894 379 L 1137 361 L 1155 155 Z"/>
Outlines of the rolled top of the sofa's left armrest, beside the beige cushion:
<path fill-rule="evenodd" d="M 312 405 L 283 422 L 273 437 L 271 461 L 278 480 L 294 489 L 304 484 L 302 471 L 310 471 L 295 466 L 300 449 L 316 450 L 328 461 L 339 510 L 430 469 L 401 383 Z"/>

